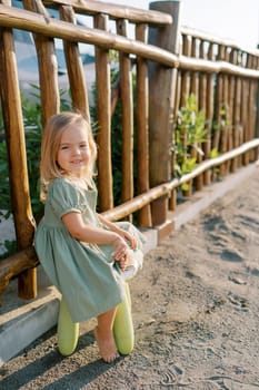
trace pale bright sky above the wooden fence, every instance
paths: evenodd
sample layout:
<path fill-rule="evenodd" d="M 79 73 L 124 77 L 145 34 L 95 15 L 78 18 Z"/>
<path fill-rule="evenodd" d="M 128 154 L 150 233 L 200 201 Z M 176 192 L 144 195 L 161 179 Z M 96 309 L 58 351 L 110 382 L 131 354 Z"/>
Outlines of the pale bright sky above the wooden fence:
<path fill-rule="evenodd" d="M 180 0 L 181 25 L 256 49 L 259 43 L 259 0 Z M 148 0 L 110 0 L 148 9 Z"/>

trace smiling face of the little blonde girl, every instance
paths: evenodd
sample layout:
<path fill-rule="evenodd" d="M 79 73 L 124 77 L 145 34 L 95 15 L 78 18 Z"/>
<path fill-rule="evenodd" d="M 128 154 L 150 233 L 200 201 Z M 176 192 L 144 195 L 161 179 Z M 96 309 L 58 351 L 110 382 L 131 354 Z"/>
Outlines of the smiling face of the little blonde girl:
<path fill-rule="evenodd" d="M 91 158 L 88 134 L 84 128 L 72 125 L 60 139 L 57 163 L 69 176 L 82 178 Z"/>

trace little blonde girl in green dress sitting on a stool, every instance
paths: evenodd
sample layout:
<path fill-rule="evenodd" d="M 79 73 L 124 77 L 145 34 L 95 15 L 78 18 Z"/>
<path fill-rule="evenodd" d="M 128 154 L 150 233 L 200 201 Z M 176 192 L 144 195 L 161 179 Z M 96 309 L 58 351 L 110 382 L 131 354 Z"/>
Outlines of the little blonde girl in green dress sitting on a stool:
<path fill-rule="evenodd" d="M 34 237 L 39 260 L 61 292 L 74 323 L 97 318 L 94 337 L 106 362 L 119 354 L 113 338 L 117 306 L 124 299 L 123 271 L 142 265 L 142 234 L 96 212 L 97 146 L 90 124 L 76 113 L 48 121 L 41 148 L 44 216 Z"/>

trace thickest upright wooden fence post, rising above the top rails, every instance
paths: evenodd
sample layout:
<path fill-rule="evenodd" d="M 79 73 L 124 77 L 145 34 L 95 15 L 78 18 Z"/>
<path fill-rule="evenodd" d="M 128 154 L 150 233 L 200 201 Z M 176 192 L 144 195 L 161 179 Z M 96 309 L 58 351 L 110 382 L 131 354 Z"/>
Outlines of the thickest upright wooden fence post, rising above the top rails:
<path fill-rule="evenodd" d="M 149 43 L 170 52 L 178 53 L 180 1 L 155 1 L 151 10 L 167 12 L 173 17 L 173 23 L 159 29 L 151 28 Z M 171 139 L 173 128 L 173 105 L 177 70 L 151 62 L 149 66 L 149 145 L 150 145 L 150 185 L 156 186 L 171 178 Z M 167 196 L 151 205 L 152 224 L 166 222 L 168 212 Z"/>

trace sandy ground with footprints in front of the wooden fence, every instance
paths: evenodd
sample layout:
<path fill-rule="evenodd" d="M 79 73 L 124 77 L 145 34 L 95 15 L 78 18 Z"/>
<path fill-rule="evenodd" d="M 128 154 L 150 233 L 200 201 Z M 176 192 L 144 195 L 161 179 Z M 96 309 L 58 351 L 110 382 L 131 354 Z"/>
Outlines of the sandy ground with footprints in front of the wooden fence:
<path fill-rule="evenodd" d="M 130 355 L 103 363 L 92 321 L 62 358 L 52 329 L 0 369 L 0 388 L 259 389 L 258 175 L 146 255 L 130 284 Z"/>

